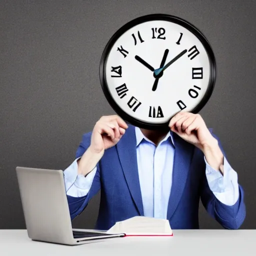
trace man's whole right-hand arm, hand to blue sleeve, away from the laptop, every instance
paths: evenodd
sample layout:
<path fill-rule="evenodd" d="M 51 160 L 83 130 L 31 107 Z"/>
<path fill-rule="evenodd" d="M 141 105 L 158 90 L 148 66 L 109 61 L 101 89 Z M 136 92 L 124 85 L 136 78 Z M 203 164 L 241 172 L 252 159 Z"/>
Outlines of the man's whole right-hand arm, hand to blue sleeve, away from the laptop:
<path fill-rule="evenodd" d="M 221 185 L 220 185 L 221 181 L 222 181 L 222 184 L 226 185 L 224 181 L 228 180 L 227 176 L 232 172 L 227 171 L 228 169 L 227 164 L 225 164 L 226 162 L 224 162 L 225 154 L 224 154 L 223 148 L 221 147 L 219 139 L 214 134 L 212 134 L 210 129 L 207 128 L 204 120 L 199 114 L 194 114 L 190 112 L 178 112 L 176 115 L 174 115 L 171 118 L 169 122 L 169 127 L 171 131 L 175 132 L 185 141 L 193 144 L 199 149 L 199 150 L 198 149 L 195 150 L 195 154 L 196 154 L 195 157 L 196 157 L 196 163 L 198 164 L 198 169 L 203 168 L 204 170 L 202 180 L 201 180 L 200 195 L 201 195 L 202 203 L 206 208 L 207 212 L 213 218 L 215 218 L 223 227 L 229 228 L 229 229 L 238 228 L 242 224 L 245 218 L 245 205 L 243 201 L 244 194 L 243 194 L 242 187 L 238 185 L 238 192 L 235 191 L 235 182 L 234 182 L 233 184 L 234 190 L 231 192 L 229 191 L 232 194 L 231 197 L 234 201 L 236 199 L 235 194 L 239 194 L 237 200 L 233 205 L 227 205 L 221 202 L 225 200 L 223 200 L 222 198 L 220 201 L 219 199 L 221 196 L 219 196 L 219 194 L 217 195 L 217 193 L 220 190 L 221 195 L 225 194 L 229 197 L 230 194 L 228 194 L 226 191 L 228 189 L 232 190 L 230 184 L 232 184 L 231 183 L 232 180 L 233 181 L 235 180 L 235 175 L 233 174 L 234 177 L 229 179 L 230 181 L 229 187 L 222 186 L 221 188 Z M 216 181 L 216 176 L 214 177 L 214 175 L 219 174 L 217 173 L 218 171 L 224 174 L 223 177 L 221 177 L 222 175 L 218 177 L 220 182 L 209 182 L 212 190 L 210 189 L 209 183 L 208 183 L 208 180 L 209 181 L 212 181 L 212 180 L 210 180 L 209 173 L 207 173 L 208 180 L 206 178 L 206 171 L 208 166 L 207 165 L 205 166 L 205 161 L 203 160 L 203 158 L 206 159 L 206 162 L 208 163 L 208 165 L 211 166 L 210 172 L 213 173 L 213 179 L 215 178 L 215 181 Z M 206 168 L 206 171 L 205 171 L 205 168 Z M 216 172 L 214 173 L 212 169 L 213 170 L 215 169 Z M 209 171 L 209 168 L 208 168 L 208 171 Z M 223 191 L 225 191 L 225 193 L 223 193 Z"/>

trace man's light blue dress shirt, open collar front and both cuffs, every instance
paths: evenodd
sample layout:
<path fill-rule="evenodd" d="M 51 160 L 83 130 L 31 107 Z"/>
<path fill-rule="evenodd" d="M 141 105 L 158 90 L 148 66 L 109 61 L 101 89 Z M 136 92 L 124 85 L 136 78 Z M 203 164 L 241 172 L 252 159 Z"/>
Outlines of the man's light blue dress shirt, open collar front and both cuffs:
<path fill-rule="evenodd" d="M 135 127 L 138 176 L 144 215 L 165 218 L 172 184 L 172 166 L 175 144 L 171 132 L 157 146 Z M 78 158 L 77 158 L 78 159 Z M 77 175 L 77 159 L 64 170 L 66 193 L 73 197 L 88 193 L 96 167 L 86 177 Z M 206 161 L 206 178 L 216 198 L 226 205 L 233 205 L 239 197 L 237 173 L 224 157 L 224 174 L 213 169 Z"/>

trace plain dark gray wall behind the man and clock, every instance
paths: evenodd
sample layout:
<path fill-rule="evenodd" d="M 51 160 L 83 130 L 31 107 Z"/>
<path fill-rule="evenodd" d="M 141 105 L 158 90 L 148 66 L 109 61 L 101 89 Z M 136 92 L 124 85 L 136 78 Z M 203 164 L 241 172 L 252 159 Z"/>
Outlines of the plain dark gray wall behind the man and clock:
<path fill-rule="evenodd" d="M 15 166 L 64 169 L 82 134 L 114 113 L 99 83 L 102 50 L 121 25 L 157 12 L 190 21 L 213 48 L 217 81 L 200 114 L 245 190 L 241 228 L 256 228 L 254 0 L 1 0 L 0 228 L 25 228 Z M 94 226 L 98 202 L 74 227 Z M 202 206 L 200 226 L 221 228 Z"/>

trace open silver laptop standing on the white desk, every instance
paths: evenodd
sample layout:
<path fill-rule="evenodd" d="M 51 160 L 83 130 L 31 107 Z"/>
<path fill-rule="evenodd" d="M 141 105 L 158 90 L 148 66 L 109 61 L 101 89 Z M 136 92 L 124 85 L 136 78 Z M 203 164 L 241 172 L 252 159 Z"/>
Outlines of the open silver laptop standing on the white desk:
<path fill-rule="evenodd" d="M 30 239 L 75 245 L 125 236 L 72 228 L 62 170 L 17 166 L 16 174 Z"/>

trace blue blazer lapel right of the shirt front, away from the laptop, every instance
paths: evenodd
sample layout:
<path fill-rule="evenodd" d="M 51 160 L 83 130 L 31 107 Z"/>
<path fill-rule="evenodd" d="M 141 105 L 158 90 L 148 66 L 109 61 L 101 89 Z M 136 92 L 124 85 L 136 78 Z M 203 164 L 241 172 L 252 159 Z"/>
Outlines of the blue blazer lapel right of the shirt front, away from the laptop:
<path fill-rule="evenodd" d="M 189 170 L 193 145 L 184 141 L 176 133 L 172 132 L 175 144 L 173 171 L 172 171 L 172 185 L 168 202 L 167 219 L 170 219 L 174 213 L 178 202 L 180 201 L 185 183 L 187 173 Z"/>

